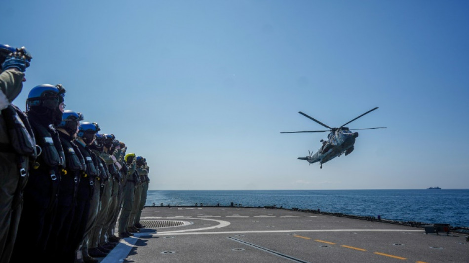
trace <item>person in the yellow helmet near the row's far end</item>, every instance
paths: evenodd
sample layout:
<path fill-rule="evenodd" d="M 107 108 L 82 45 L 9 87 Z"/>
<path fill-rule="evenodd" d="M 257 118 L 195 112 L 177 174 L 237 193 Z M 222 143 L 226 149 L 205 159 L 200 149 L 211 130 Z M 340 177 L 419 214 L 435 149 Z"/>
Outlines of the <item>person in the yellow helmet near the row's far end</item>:
<path fill-rule="evenodd" d="M 129 167 L 128 172 L 124 175 L 125 177 L 125 186 L 122 194 L 122 210 L 119 217 L 119 237 L 130 237 L 127 231 L 127 225 L 129 224 L 129 216 L 132 211 L 132 206 L 134 202 L 135 194 L 135 174 L 136 169 L 136 158 L 135 153 L 128 153 L 124 157 L 127 166 Z"/>

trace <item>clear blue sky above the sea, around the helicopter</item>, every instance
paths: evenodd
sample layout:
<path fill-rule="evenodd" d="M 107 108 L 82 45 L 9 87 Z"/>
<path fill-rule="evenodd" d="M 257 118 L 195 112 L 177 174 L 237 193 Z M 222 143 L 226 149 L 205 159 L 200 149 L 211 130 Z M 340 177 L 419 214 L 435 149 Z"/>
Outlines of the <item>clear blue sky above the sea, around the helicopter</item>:
<path fill-rule="evenodd" d="M 150 189 L 469 188 L 467 1 L 2 3 L 33 54 L 14 104 L 62 83 L 68 110 L 147 158 Z M 5 26 L 5 25 L 9 26 Z M 10 26 L 11 25 L 11 26 Z M 327 133 L 364 130 L 323 165 Z"/>

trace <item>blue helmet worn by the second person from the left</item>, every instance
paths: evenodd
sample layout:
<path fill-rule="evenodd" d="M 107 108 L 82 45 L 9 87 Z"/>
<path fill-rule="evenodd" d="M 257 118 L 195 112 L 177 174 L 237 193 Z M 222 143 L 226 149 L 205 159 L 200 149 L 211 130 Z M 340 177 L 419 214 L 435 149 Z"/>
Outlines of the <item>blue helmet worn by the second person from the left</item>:
<path fill-rule="evenodd" d="M 61 84 L 41 84 L 31 89 L 26 99 L 26 111 L 31 107 L 42 106 L 55 110 L 60 103 L 64 102 L 65 89 Z"/>

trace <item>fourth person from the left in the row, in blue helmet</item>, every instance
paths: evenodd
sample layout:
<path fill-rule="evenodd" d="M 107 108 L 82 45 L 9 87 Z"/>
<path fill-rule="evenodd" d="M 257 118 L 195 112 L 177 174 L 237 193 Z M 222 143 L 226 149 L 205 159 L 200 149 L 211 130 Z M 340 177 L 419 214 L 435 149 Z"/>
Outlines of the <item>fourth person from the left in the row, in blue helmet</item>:
<path fill-rule="evenodd" d="M 88 254 L 88 237 L 91 229 L 96 225 L 96 219 L 101 209 L 101 176 L 99 170 L 99 160 L 96 154 L 89 149 L 89 146 L 94 143 L 96 133 L 100 131 L 99 125 L 96 122 L 82 122 L 78 127 L 78 135 L 76 144 L 81 154 L 86 161 L 86 174 L 93 178 L 93 193 L 90 198 L 90 208 L 85 226 L 85 233 L 80 247 L 77 250 L 76 262 L 97 263 L 98 260 L 94 259 Z"/>

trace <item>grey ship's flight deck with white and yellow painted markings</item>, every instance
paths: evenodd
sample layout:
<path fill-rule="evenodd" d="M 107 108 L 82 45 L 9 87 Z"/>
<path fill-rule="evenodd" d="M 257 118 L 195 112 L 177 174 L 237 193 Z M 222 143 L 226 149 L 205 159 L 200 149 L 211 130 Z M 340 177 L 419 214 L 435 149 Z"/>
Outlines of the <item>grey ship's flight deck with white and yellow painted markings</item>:
<path fill-rule="evenodd" d="M 100 263 L 468 263 L 466 235 L 284 209 L 146 207 L 169 221 L 124 238 Z M 179 223 L 180 222 L 180 223 Z"/>

